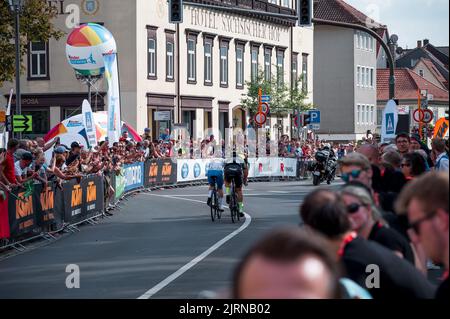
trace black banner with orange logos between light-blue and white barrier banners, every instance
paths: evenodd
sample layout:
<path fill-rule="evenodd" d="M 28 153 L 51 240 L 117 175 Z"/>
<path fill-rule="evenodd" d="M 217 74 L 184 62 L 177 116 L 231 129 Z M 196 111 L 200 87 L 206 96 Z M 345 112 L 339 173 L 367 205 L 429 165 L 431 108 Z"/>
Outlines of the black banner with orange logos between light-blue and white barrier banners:
<path fill-rule="evenodd" d="M 171 159 L 145 162 L 145 187 L 177 182 L 177 164 Z"/>

